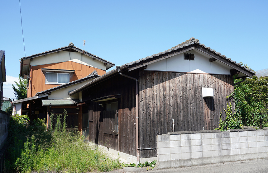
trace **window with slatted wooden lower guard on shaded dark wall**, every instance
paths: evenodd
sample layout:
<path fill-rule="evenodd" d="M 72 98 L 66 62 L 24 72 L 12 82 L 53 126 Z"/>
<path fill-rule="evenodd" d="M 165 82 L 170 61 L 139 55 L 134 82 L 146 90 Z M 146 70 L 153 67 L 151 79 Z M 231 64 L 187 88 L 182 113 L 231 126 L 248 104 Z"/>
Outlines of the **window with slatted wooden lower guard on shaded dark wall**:
<path fill-rule="evenodd" d="M 118 102 L 105 104 L 103 133 L 118 135 Z"/>

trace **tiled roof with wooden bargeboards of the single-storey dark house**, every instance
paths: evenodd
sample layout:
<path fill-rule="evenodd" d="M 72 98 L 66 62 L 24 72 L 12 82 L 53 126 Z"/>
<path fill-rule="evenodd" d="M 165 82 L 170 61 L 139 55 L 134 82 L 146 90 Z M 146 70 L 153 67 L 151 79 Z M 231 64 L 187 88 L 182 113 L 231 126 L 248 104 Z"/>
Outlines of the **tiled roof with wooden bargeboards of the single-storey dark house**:
<path fill-rule="evenodd" d="M 222 63 L 225 63 L 229 66 L 231 66 L 232 68 L 236 69 L 237 71 L 242 71 L 244 74 L 246 74 L 247 76 L 252 77 L 252 75 L 255 75 L 255 72 L 253 70 L 251 70 L 250 68 L 246 68 L 246 66 L 241 65 L 240 63 L 237 63 L 236 61 L 231 60 L 230 58 L 227 58 L 225 55 L 222 55 L 221 53 L 216 52 L 213 49 L 210 49 L 210 47 L 206 47 L 204 44 L 199 43 L 198 39 L 195 38 L 190 38 L 189 40 L 186 40 L 185 42 L 171 48 L 168 50 L 165 50 L 163 52 L 160 52 L 158 54 L 153 54 L 151 56 L 147 56 L 146 58 L 141 58 L 139 60 L 136 61 L 132 61 L 131 63 L 127 63 L 124 65 L 121 65 L 120 67 L 118 67 L 121 71 L 125 68 L 128 68 L 129 71 L 134 70 L 136 68 L 141 68 L 143 66 L 146 66 L 150 63 L 154 63 L 156 61 L 165 59 L 165 58 L 169 58 L 171 56 L 174 56 L 175 54 L 171 54 L 171 52 L 176 52 L 177 54 L 179 53 L 183 53 L 192 49 L 198 49 L 200 51 L 202 51 L 203 53 L 206 53 L 208 55 L 210 55 L 211 57 L 213 57 L 212 61 L 214 60 L 218 60 L 221 61 Z M 107 72 L 106 74 L 93 79 L 92 81 L 84 84 L 83 86 L 70 91 L 69 95 L 73 95 L 77 92 L 79 92 L 80 90 L 84 89 L 85 87 L 92 85 L 93 83 L 96 83 L 98 81 L 101 81 L 102 79 L 111 76 L 112 74 L 118 72 L 117 69 L 113 69 L 112 71 Z"/>

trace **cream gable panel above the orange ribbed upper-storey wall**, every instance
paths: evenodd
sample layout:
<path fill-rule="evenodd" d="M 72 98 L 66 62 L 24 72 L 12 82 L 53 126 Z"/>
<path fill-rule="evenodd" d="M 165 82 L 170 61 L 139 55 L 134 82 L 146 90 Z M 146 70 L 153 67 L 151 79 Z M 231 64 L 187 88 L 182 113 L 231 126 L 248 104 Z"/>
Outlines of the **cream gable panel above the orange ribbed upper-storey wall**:
<path fill-rule="evenodd" d="M 71 57 L 71 60 L 70 60 Z M 99 68 L 102 70 L 106 70 L 106 66 L 103 62 L 98 61 L 97 59 L 93 60 L 93 58 L 82 55 L 80 52 L 69 52 L 60 51 L 59 53 L 55 52 L 52 54 L 47 54 L 46 56 L 40 56 L 33 58 L 31 61 L 32 66 L 43 65 L 43 64 L 51 64 L 51 63 L 60 63 L 65 61 L 73 61 L 76 63 L 82 63 L 84 65 L 88 65 L 90 67 Z"/>

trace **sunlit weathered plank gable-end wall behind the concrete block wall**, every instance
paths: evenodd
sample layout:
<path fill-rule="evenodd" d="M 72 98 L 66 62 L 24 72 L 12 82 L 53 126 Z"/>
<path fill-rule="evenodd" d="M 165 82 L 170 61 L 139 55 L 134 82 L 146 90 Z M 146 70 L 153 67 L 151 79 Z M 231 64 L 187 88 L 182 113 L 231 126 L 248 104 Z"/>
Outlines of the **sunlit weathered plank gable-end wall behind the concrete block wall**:
<path fill-rule="evenodd" d="M 173 131 L 172 119 L 175 131 L 218 128 L 220 111 L 233 92 L 233 77 L 140 71 L 139 87 L 139 148 L 156 148 L 156 135 Z M 213 88 L 214 97 L 203 98 L 202 87 Z M 156 150 L 141 150 L 140 155 L 156 157 Z"/>

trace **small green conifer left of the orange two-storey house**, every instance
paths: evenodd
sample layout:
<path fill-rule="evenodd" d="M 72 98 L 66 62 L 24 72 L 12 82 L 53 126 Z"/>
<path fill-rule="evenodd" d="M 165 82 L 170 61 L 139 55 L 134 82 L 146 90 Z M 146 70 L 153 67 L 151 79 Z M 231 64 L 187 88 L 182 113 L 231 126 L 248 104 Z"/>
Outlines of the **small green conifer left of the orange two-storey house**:
<path fill-rule="evenodd" d="M 19 75 L 19 82 L 17 83 L 15 81 L 18 88 L 16 88 L 14 85 L 12 85 L 12 88 L 14 90 L 14 94 L 17 98 L 17 100 L 25 99 L 27 98 L 27 80 L 22 79 Z"/>

